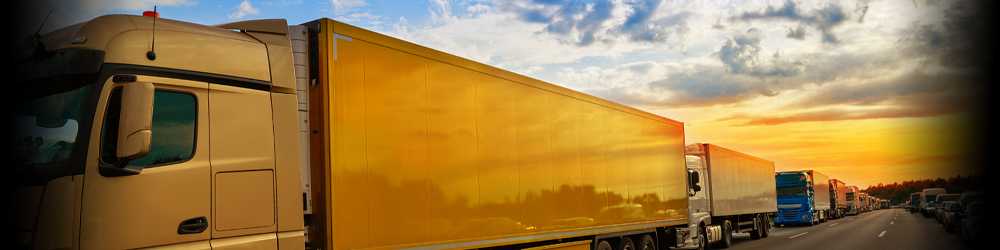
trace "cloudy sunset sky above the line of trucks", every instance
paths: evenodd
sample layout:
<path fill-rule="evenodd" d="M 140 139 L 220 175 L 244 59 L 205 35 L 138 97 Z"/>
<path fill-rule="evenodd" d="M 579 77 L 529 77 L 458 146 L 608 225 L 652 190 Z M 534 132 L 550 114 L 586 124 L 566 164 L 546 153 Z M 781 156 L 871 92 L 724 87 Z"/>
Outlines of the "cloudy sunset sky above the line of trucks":
<path fill-rule="evenodd" d="M 981 85 L 971 1 L 89 0 L 42 29 L 153 5 L 202 24 L 333 18 L 860 187 L 974 171 L 957 163 Z"/>

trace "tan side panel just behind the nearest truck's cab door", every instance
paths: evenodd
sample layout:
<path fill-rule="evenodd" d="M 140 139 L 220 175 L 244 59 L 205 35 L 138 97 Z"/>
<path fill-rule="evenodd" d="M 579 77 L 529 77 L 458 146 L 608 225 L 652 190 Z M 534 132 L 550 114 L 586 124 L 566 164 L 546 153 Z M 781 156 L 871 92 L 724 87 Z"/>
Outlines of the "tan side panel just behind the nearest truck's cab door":
<path fill-rule="evenodd" d="M 271 93 L 209 89 L 212 249 L 277 249 Z"/>

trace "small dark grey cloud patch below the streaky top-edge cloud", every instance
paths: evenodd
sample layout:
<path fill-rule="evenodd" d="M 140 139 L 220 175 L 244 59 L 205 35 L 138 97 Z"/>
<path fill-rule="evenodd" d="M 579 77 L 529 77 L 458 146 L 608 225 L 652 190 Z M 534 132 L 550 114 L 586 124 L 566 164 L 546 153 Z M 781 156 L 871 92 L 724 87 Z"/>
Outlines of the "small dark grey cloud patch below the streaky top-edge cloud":
<path fill-rule="evenodd" d="M 763 61 L 760 58 L 760 42 L 763 36 L 760 30 L 750 28 L 727 39 L 716 54 L 726 70 L 734 74 L 788 77 L 801 73 L 801 62 L 784 61 L 778 53 L 774 54 L 771 61 Z"/>

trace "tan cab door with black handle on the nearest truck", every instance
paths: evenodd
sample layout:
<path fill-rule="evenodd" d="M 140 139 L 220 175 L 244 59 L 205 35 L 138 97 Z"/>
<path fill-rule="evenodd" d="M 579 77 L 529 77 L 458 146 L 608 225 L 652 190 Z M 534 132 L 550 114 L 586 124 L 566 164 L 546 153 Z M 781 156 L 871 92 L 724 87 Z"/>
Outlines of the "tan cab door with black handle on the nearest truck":
<path fill-rule="evenodd" d="M 80 249 L 207 249 L 212 223 L 208 84 L 139 75 L 101 89 L 86 161 Z M 109 176 L 117 159 L 122 89 L 152 83 L 149 152 L 127 162 L 139 171 Z"/>

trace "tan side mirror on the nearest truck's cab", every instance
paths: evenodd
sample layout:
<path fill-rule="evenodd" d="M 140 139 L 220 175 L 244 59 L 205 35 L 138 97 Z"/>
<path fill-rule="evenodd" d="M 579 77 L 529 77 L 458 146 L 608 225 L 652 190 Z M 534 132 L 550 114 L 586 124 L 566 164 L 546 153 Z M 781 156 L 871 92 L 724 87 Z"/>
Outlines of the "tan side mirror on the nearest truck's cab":
<path fill-rule="evenodd" d="M 118 159 L 128 161 L 149 153 L 153 138 L 153 84 L 131 82 L 122 89 L 118 120 Z"/>

